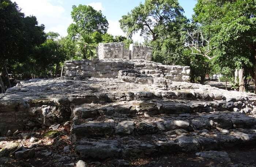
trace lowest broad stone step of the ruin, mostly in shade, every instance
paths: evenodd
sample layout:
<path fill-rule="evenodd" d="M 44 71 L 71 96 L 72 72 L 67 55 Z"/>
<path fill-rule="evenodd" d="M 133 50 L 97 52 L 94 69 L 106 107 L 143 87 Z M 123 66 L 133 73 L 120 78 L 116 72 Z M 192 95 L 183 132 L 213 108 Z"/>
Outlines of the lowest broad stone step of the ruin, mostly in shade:
<path fill-rule="evenodd" d="M 256 143 L 255 129 L 200 130 L 192 133 L 145 136 L 82 138 L 75 147 L 79 158 L 137 159 L 173 152 L 219 150 Z"/>

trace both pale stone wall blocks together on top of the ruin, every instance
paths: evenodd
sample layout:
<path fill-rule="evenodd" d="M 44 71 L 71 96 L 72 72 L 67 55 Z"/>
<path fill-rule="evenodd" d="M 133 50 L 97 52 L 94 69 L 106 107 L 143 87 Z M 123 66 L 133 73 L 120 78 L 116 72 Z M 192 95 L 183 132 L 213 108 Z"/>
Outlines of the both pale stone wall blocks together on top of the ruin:
<path fill-rule="evenodd" d="M 97 55 L 100 60 L 106 58 L 152 60 L 152 48 L 149 46 L 130 44 L 129 50 L 122 42 L 99 43 Z"/>

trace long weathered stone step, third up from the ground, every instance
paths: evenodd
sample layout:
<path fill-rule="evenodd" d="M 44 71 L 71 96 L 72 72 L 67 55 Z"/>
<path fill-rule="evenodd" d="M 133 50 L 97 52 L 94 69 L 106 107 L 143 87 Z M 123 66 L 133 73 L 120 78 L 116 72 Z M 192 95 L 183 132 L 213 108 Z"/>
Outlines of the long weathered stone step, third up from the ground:
<path fill-rule="evenodd" d="M 145 93 L 145 95 L 140 96 L 140 98 L 146 99 L 147 95 L 148 94 Z M 99 115 L 126 115 L 133 117 L 137 114 L 144 114 L 145 117 L 148 117 L 157 114 L 209 113 L 215 109 L 233 111 L 235 107 L 237 106 L 235 106 L 233 102 L 227 102 L 225 100 L 197 101 L 153 99 L 101 104 L 90 103 L 76 106 L 73 113 L 74 116 L 78 118 L 94 118 Z"/>

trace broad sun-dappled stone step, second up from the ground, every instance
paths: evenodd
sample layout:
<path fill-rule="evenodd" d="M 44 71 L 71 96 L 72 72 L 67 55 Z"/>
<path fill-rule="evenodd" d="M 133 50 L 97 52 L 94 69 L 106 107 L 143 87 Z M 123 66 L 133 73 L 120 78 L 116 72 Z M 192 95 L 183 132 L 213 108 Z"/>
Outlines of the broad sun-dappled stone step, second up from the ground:
<path fill-rule="evenodd" d="M 159 114 L 151 117 L 105 117 L 73 119 L 72 140 L 80 138 L 142 136 L 146 134 L 173 134 L 197 130 L 256 128 L 256 118 L 238 112 L 210 112 L 195 114 Z"/>

